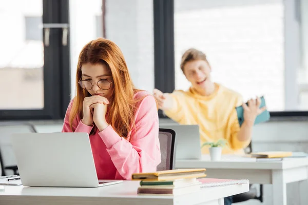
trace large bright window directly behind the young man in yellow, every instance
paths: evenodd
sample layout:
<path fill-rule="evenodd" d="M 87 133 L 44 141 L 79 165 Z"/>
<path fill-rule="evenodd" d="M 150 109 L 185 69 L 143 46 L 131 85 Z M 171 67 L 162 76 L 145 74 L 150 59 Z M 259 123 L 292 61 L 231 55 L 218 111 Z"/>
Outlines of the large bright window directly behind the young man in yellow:
<path fill-rule="evenodd" d="M 244 100 L 264 95 L 269 111 L 308 109 L 298 2 L 175 0 L 176 89 L 189 87 L 180 60 L 194 47 L 207 55 L 213 79 Z"/>

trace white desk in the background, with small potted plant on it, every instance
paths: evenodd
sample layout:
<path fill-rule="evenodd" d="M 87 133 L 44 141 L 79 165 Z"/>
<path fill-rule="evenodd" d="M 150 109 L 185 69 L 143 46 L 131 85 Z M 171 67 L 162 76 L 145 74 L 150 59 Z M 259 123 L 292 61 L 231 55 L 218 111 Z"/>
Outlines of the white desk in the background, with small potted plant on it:
<path fill-rule="evenodd" d="M 286 183 L 300 181 L 301 205 L 308 204 L 308 157 L 260 162 L 228 155 L 210 161 L 204 155 L 201 160 L 177 160 L 176 168 L 205 168 L 209 178 L 247 178 L 251 183 L 271 184 L 274 205 L 286 205 Z"/>

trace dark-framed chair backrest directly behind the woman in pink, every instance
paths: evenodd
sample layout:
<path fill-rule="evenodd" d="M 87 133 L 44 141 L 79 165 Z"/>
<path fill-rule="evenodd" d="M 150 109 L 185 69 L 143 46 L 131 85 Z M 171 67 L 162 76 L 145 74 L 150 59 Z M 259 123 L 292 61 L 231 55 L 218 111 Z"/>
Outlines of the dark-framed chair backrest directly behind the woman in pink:
<path fill-rule="evenodd" d="M 172 170 L 175 165 L 176 132 L 171 129 L 159 129 L 159 142 L 161 149 L 161 163 L 157 171 Z"/>

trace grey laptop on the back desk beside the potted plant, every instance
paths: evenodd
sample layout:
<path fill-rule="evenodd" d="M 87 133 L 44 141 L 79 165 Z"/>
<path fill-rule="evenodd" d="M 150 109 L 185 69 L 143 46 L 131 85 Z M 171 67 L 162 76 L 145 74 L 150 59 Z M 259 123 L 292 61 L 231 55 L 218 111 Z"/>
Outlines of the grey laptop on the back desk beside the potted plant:
<path fill-rule="evenodd" d="M 161 124 L 160 128 L 176 132 L 176 159 L 200 159 L 201 144 L 198 125 Z"/>

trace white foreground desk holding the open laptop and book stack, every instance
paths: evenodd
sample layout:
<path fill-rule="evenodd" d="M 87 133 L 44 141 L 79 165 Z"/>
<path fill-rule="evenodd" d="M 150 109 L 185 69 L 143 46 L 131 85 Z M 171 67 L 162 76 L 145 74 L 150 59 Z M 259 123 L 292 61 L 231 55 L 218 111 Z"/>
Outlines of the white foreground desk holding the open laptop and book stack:
<path fill-rule="evenodd" d="M 139 181 L 124 181 L 99 188 L 40 188 L 5 186 L 0 204 L 206 204 L 223 205 L 226 196 L 249 191 L 249 185 L 232 185 L 202 189 L 181 196 L 139 196 Z"/>

